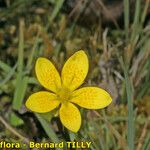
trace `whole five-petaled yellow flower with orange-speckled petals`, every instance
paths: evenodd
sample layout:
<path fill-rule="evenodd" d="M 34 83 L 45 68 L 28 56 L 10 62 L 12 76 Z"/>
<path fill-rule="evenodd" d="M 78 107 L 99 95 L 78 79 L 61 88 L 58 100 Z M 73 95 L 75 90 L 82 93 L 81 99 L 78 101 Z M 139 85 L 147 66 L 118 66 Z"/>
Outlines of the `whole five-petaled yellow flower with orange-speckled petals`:
<path fill-rule="evenodd" d="M 98 87 L 77 89 L 83 84 L 88 68 L 88 58 L 83 50 L 66 61 L 61 77 L 48 59 L 38 58 L 35 65 L 37 79 L 49 91 L 32 94 L 26 101 L 26 107 L 38 113 L 60 108 L 62 124 L 77 132 L 81 126 L 81 115 L 75 104 L 88 109 L 100 109 L 112 101 L 110 95 Z"/>

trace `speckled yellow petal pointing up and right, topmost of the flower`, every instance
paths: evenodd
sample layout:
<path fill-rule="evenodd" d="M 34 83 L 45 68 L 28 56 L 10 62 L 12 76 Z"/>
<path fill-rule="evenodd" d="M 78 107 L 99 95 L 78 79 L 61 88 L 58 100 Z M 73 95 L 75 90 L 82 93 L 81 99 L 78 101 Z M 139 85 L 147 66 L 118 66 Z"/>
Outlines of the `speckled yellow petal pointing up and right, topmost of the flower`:
<path fill-rule="evenodd" d="M 62 69 L 63 86 L 71 91 L 78 88 L 87 75 L 88 66 L 88 58 L 84 51 L 80 50 L 72 55 Z"/>

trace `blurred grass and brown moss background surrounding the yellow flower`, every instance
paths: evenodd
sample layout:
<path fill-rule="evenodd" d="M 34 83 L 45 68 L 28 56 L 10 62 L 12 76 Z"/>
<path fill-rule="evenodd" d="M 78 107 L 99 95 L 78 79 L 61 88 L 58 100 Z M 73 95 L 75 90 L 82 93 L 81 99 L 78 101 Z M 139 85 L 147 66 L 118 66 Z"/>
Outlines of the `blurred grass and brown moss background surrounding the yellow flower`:
<path fill-rule="evenodd" d="M 92 150 L 150 149 L 150 0 L 0 0 L 0 140 L 92 141 Z M 42 89 L 34 65 L 59 71 L 77 50 L 88 54 L 83 86 L 99 86 L 113 103 L 82 112 L 68 132 L 53 114 L 26 109 Z"/>

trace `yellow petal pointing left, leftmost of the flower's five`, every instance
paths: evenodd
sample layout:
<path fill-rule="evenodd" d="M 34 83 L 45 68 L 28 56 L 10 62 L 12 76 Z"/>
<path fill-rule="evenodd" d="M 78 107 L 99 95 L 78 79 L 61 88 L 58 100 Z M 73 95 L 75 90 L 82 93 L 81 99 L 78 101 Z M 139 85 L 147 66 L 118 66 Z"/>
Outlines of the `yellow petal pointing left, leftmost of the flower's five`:
<path fill-rule="evenodd" d="M 45 113 L 55 109 L 60 102 L 57 96 L 50 92 L 37 92 L 32 94 L 26 101 L 26 107 L 34 112 Z"/>

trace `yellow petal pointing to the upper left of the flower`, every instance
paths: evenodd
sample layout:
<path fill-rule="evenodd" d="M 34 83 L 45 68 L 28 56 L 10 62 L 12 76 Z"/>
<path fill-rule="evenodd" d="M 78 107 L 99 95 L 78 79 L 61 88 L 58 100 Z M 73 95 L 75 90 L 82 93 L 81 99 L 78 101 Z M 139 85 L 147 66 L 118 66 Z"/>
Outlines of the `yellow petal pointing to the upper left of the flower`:
<path fill-rule="evenodd" d="M 53 92 L 57 92 L 57 88 L 61 86 L 60 75 L 48 59 L 38 58 L 35 71 L 41 85 Z"/>

